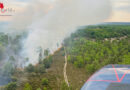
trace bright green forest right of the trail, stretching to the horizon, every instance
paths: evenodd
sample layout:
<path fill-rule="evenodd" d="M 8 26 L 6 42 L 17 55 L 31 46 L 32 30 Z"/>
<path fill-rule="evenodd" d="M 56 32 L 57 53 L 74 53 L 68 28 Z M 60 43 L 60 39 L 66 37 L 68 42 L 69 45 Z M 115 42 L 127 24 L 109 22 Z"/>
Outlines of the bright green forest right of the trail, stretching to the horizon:
<path fill-rule="evenodd" d="M 88 74 L 108 64 L 130 64 L 130 26 L 88 26 L 67 38 L 65 46 L 68 60 Z"/>

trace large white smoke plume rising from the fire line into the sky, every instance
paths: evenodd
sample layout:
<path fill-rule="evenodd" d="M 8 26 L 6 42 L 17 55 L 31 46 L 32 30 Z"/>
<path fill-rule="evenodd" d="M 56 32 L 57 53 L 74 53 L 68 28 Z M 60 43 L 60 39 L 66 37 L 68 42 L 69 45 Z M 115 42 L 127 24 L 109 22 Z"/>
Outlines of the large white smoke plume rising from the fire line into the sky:
<path fill-rule="evenodd" d="M 55 51 L 57 43 L 61 44 L 78 26 L 107 19 L 111 14 L 111 3 L 109 0 L 37 0 L 24 12 L 14 18 L 12 26 L 29 30 L 23 40 L 22 55 L 35 64 L 38 47 Z"/>

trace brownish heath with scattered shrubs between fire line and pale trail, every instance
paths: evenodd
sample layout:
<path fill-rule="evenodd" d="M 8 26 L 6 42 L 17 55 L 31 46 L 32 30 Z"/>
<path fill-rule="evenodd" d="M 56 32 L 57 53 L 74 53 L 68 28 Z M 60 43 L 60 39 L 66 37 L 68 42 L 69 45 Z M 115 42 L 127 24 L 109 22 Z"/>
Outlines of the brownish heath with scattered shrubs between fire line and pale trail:
<path fill-rule="evenodd" d="M 55 55 L 49 55 L 47 58 L 43 59 L 41 63 L 31 67 L 33 70 L 27 70 L 16 72 L 15 77 L 18 78 L 20 82 L 16 90 L 24 90 L 25 87 L 31 86 L 32 90 L 58 90 L 62 86 L 62 81 L 64 80 L 63 76 L 63 67 L 64 67 L 64 56 L 62 54 L 64 50 L 55 52 Z M 51 57 L 51 60 L 50 60 Z M 50 60 L 51 63 L 49 68 L 45 68 L 44 60 Z M 40 71 L 38 70 L 40 68 Z M 42 72 L 42 70 L 45 72 Z M 19 71 L 19 70 L 18 70 Z M 29 85 L 26 85 L 26 84 Z"/>

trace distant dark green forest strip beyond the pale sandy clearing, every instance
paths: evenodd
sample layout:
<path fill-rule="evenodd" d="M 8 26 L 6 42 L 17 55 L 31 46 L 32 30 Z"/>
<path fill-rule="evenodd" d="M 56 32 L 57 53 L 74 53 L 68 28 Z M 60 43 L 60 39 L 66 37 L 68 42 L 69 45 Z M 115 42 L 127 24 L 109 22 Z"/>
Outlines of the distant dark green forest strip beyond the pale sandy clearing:
<path fill-rule="evenodd" d="M 104 40 L 105 38 L 120 38 L 130 36 L 129 25 L 97 25 L 78 29 L 71 39 L 84 37 L 87 39 Z"/>

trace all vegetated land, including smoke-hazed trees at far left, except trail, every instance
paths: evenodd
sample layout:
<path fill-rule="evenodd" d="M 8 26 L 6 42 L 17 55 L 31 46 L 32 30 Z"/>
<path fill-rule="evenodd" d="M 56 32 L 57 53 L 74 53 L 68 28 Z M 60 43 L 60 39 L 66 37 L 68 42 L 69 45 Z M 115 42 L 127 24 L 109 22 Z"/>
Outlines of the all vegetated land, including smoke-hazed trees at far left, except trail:
<path fill-rule="evenodd" d="M 21 50 L 21 38 L 22 35 L 11 37 L 0 34 L 0 61 L 5 59 L 4 56 L 8 56 L 9 61 L 4 64 L 0 73 L 4 72 L 4 75 L 7 74 L 11 78 L 10 83 L 3 90 L 79 90 L 85 80 L 103 66 L 130 64 L 129 25 L 81 27 L 64 40 L 63 47 L 67 51 L 69 64 L 67 73 L 70 87 L 66 85 L 63 78 L 63 47 L 53 55 L 50 55 L 49 49 L 43 51 L 39 48 L 38 64 L 29 64 L 24 69 L 17 68 L 13 62 L 17 61 L 16 57 Z M 13 53 L 6 55 L 7 50 Z M 43 52 L 46 56 L 44 59 L 41 56 Z M 72 70 L 76 72 L 73 76 L 71 76 Z M 78 80 L 82 83 L 75 82 L 74 77 L 80 77 Z"/>

